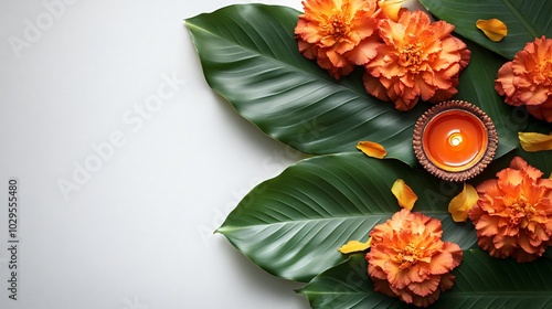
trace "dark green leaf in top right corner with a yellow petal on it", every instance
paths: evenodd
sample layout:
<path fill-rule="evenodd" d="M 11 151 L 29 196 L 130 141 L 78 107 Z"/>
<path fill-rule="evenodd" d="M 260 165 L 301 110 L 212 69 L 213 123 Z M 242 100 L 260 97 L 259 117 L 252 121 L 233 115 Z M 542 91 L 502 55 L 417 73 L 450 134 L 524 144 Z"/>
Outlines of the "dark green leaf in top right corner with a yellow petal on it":
<path fill-rule="evenodd" d="M 550 0 L 420 0 L 438 19 L 456 26 L 460 35 L 507 58 L 528 42 L 545 35 L 552 38 L 552 1 Z M 479 19 L 499 19 L 508 26 L 508 35 L 492 42 L 476 28 Z"/>

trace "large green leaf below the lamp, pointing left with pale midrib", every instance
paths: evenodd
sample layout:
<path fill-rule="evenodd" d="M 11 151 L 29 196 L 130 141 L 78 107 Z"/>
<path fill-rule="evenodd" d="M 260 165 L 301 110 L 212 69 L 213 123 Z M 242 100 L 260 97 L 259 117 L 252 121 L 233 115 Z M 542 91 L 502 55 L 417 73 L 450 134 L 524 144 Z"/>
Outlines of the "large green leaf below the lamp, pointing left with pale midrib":
<path fill-rule="evenodd" d="M 470 223 L 454 223 L 448 203 L 461 184 L 437 180 L 396 160 L 362 153 L 300 161 L 252 190 L 217 230 L 256 265 L 282 278 L 307 281 L 343 262 L 338 248 L 365 241 L 400 210 L 391 187 L 403 179 L 417 194 L 414 211 L 443 222 L 444 238 L 469 248 Z"/>

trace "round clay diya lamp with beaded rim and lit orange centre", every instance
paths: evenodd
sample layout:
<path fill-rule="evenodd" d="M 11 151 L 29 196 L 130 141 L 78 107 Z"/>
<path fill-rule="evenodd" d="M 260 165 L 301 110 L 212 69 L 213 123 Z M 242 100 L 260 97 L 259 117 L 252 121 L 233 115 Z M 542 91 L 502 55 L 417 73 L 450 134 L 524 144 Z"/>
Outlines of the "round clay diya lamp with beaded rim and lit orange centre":
<path fill-rule="evenodd" d="M 498 146 L 491 119 L 477 106 L 448 100 L 416 121 L 413 148 L 420 163 L 447 181 L 465 181 L 492 161 Z"/>

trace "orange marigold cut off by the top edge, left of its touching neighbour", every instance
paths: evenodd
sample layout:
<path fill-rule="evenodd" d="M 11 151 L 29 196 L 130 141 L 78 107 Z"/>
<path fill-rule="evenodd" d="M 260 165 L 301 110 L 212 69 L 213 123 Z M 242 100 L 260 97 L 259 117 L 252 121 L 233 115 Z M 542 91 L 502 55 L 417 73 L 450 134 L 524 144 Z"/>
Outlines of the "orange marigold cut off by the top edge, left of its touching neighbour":
<path fill-rule="evenodd" d="M 306 0 L 295 28 L 299 51 L 335 78 L 375 56 L 378 0 Z"/>

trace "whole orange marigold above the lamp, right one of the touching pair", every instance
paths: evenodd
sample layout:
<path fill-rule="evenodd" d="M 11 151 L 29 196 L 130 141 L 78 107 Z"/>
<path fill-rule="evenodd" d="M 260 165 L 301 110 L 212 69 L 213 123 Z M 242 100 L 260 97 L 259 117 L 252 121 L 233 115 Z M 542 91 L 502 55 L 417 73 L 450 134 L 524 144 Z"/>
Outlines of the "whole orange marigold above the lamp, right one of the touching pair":
<path fill-rule="evenodd" d="M 470 60 L 470 52 L 450 35 L 454 25 L 431 21 L 423 11 L 403 11 L 399 21 L 380 21 L 385 44 L 365 64 L 364 86 L 399 110 L 413 108 L 422 98 L 431 103 L 449 99 L 457 93 L 458 76 Z"/>

